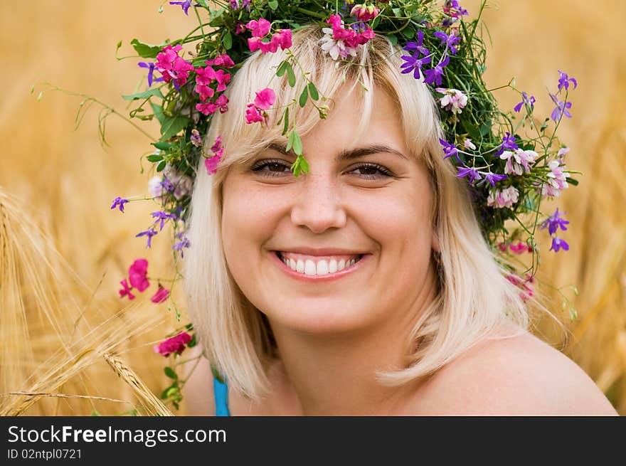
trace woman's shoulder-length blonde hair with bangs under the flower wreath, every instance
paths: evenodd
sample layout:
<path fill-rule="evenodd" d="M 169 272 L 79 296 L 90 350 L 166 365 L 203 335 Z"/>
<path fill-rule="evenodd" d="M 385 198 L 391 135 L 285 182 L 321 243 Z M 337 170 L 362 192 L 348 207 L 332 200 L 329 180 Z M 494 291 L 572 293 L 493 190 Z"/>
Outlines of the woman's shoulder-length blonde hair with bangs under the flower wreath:
<path fill-rule="evenodd" d="M 526 329 L 526 305 L 482 235 L 470 185 L 458 179 L 454 166 L 443 159 L 430 90 L 413 75 L 400 73 L 400 49 L 384 36 L 376 36 L 370 46 L 359 48 L 354 60 L 339 65 L 319 47 L 320 38 L 319 27 L 307 26 L 294 33 L 290 49 L 302 69 L 311 73 L 309 79 L 320 95 L 332 101 L 344 83 L 352 83 L 351 91 L 362 88 L 362 131 L 371 115 L 373 85 L 386 90 L 400 109 L 407 147 L 428 169 L 434 192 L 432 224 L 441 253 L 437 297 L 410 332 L 405 369 L 378 374 L 381 383 L 400 385 L 431 374 L 504 322 Z M 184 263 L 189 313 L 206 356 L 230 386 L 252 397 L 267 390 L 266 369 L 274 345 L 267 320 L 243 296 L 228 271 L 221 238 L 221 193 L 231 165 L 244 163 L 285 138 L 282 125 L 276 125 L 281 112 L 269 111 L 267 127 L 245 125 L 243 115 L 255 91 L 268 85 L 277 96 L 272 108 L 297 101 L 304 80 L 299 78 L 292 88 L 286 75 L 275 75 L 286 56 L 282 51 L 258 52 L 248 58 L 226 91 L 228 112 L 213 116 L 206 144 L 221 135 L 226 152 L 215 175 L 206 174 L 202 160 L 198 166 L 191 201 L 191 251 Z M 310 103 L 290 116 L 295 117 L 300 135 L 319 122 L 319 113 Z"/>

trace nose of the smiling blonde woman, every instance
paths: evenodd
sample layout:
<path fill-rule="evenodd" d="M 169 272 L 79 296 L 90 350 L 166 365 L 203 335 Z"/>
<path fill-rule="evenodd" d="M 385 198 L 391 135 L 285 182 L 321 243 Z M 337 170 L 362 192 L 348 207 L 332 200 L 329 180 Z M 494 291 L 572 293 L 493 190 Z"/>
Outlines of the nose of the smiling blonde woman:
<path fill-rule="evenodd" d="M 299 191 L 293 199 L 291 220 L 296 226 L 309 228 L 313 233 L 324 233 L 329 228 L 346 224 L 346 211 L 339 186 L 331 176 L 301 174 Z"/>

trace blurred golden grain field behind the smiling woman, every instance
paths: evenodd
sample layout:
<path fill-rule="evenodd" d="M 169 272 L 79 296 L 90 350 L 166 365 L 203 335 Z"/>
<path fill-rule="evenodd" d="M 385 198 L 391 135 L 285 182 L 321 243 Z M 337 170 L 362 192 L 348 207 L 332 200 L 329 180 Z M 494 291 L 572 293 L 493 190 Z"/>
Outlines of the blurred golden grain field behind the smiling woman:
<path fill-rule="evenodd" d="M 169 278 L 169 238 L 152 249 L 134 238 L 152 223 L 150 203 L 111 211 L 115 196 L 147 194 L 149 174 L 139 157 L 150 140 L 116 115 L 107 119 L 103 147 L 97 132 L 100 108 L 93 105 L 75 129 L 82 100 L 51 92 L 44 81 L 97 97 L 127 115 L 120 95 L 136 90 L 144 70 L 133 38 L 161 43 L 191 29 L 195 18 L 161 2 L 38 0 L 1 2 L 3 69 L 0 86 L 0 414 L 166 414 L 157 399 L 168 386 L 164 359 L 152 346 L 180 322 L 166 303 L 138 297 L 122 309 L 119 282 L 135 258 L 149 260 L 150 277 Z M 479 0 L 462 1 L 470 15 Z M 570 92 L 573 118 L 559 129 L 571 147 L 568 168 L 582 171 L 545 211 L 559 206 L 570 221 L 563 233 L 571 249 L 543 248 L 539 279 L 558 290 L 551 309 L 570 335 L 550 319 L 536 333 L 576 361 L 626 414 L 626 3 L 610 0 L 491 2 L 484 13 L 488 44 L 485 79 L 491 88 L 515 78 L 519 90 L 537 97 L 536 115 L 549 115 L 548 88 L 558 70 L 578 80 Z M 31 94 L 31 86 L 35 90 Z M 37 99 L 43 91 L 41 100 Z M 519 101 L 497 90 L 502 108 Z M 144 125 L 154 135 L 157 126 Z M 144 160 L 144 168 L 149 163 Z M 5 194 L 2 194 L 4 191 Z M 46 233 L 46 237 L 39 231 Z M 542 244 L 545 238 L 539 237 Z M 58 250 L 60 255 L 55 253 Z M 9 266 L 10 265 L 10 266 Z M 571 285 L 578 287 L 575 296 Z M 9 286 L 13 288 L 9 289 Z M 181 295 L 180 285 L 174 296 Z M 151 295 L 156 285 L 144 295 Z M 565 295 L 578 312 L 571 322 Z M 182 311 L 184 314 L 184 306 Z M 61 337 L 63 336 L 63 337 Z M 121 342 L 121 343 L 120 343 Z M 78 357 L 76 355 L 79 355 Z M 117 375 L 116 375 L 117 374 Z M 211 384 L 207 381 L 207 390 Z M 29 395 L 6 395 L 28 391 Z M 38 393 L 38 394 L 36 394 Z M 154 393 L 154 395 L 152 395 Z M 64 394 L 64 397 L 52 395 Z M 67 398 L 66 396 L 97 398 Z M 181 411 L 184 413 L 184 403 Z"/>

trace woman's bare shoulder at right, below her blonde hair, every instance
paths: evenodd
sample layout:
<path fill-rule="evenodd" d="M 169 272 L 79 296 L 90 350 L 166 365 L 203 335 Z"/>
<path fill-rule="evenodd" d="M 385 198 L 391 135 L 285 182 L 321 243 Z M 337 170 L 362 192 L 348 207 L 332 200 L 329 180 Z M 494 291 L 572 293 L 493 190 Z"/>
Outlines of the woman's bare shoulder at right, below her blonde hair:
<path fill-rule="evenodd" d="M 519 329 L 485 339 L 420 390 L 425 415 L 617 415 L 583 369 Z"/>

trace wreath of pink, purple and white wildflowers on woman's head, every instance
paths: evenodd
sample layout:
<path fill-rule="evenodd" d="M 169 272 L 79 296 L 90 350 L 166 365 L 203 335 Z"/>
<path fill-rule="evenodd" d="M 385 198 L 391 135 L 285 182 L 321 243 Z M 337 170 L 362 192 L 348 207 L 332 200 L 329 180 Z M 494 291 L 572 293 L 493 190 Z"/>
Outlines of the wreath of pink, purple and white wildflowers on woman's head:
<path fill-rule="evenodd" d="M 210 144 L 204 144 L 203 137 L 212 115 L 228 112 L 224 92 L 233 73 L 252 53 L 275 53 L 280 48 L 287 58 L 275 74 L 286 75 L 294 87 L 300 67 L 290 53 L 292 31 L 307 23 L 319 23 L 324 33 L 319 46 L 333 60 L 350 60 L 359 47 L 371 46 L 369 42 L 376 34 L 386 36 L 394 45 L 400 44 L 404 52 L 402 73 L 423 80 L 439 105 L 445 134 L 440 139 L 444 158 L 455 165 L 459 178 L 472 185 L 474 205 L 487 242 L 503 258 L 532 255 L 531 268 L 524 272 L 516 272 L 509 263 L 504 265 L 510 271 L 507 278 L 519 287 L 522 299 L 529 300 L 539 265 L 536 227 L 548 229 L 550 250 L 569 249 L 566 240 L 557 235 L 559 230 L 566 231 L 569 223 L 563 212 L 557 208 L 547 215 L 541 213 L 540 206 L 543 198 L 559 196 L 569 184 L 578 184 L 571 178 L 572 173 L 578 172 L 566 171 L 569 149 L 556 137 L 563 117 L 571 118 L 568 92 L 578 83 L 558 70 L 556 91 L 549 93 L 554 110 L 537 120 L 535 97 L 517 90 L 511 80 L 503 87 L 518 92 L 521 100 L 512 110 L 500 110 L 492 90 L 482 80 L 486 52 L 479 26 L 485 4 L 483 1 L 477 17 L 470 21 L 467 10 L 457 0 L 442 4 L 433 0 L 373 0 L 364 4 L 322 0 L 216 0 L 211 4 L 207 0 L 169 1 L 190 19 L 195 16 L 197 25 L 183 38 L 158 46 L 132 40 L 137 55 L 148 60 L 138 63 L 147 70 L 147 85 L 142 92 L 122 96 L 135 103 L 130 119 L 158 120 L 161 126 L 161 137 L 152 142 L 154 152 L 147 156 L 156 170 L 149 180 L 149 199 L 159 204 L 159 210 L 152 213 L 149 228 L 137 233 L 137 237 L 144 237 L 149 248 L 153 237 L 170 223 L 176 261 L 178 255 L 183 258 L 186 249 L 193 247 L 185 236 L 193 178 L 201 158 L 208 174 L 216 173 L 223 158 L 221 137 Z M 117 44 L 118 50 L 121 45 Z M 304 87 L 298 90 L 298 101 L 291 105 L 304 107 L 312 102 L 324 118 L 329 107 L 323 104 L 324 96 L 307 74 Z M 265 125 L 266 110 L 274 101 L 272 88 L 258 90 L 241 118 L 250 125 Z M 307 173 L 309 167 L 295 120 L 290 119 L 290 106 L 282 110 L 279 124 L 283 125 L 287 150 L 292 149 L 297 155 L 291 169 L 299 176 Z M 209 146 L 208 153 L 203 152 Z M 120 196 L 111 208 L 124 212 L 126 203 L 139 199 L 145 197 Z M 509 231 L 504 226 L 506 221 L 516 221 L 519 226 Z M 134 261 L 129 277 L 121 282 L 120 297 L 132 300 L 133 291 L 143 292 L 149 287 L 147 266 L 145 259 Z M 176 277 L 180 276 L 176 268 Z M 159 284 L 152 301 L 171 300 L 170 291 L 171 287 L 168 290 Z M 180 319 L 173 301 L 172 305 Z M 163 356 L 180 355 L 186 347 L 196 344 L 195 335 L 189 334 L 192 331 L 192 325 L 186 324 L 155 346 L 155 351 Z M 165 373 L 172 383 L 161 398 L 178 408 L 184 381 L 172 367 L 166 367 Z"/>

